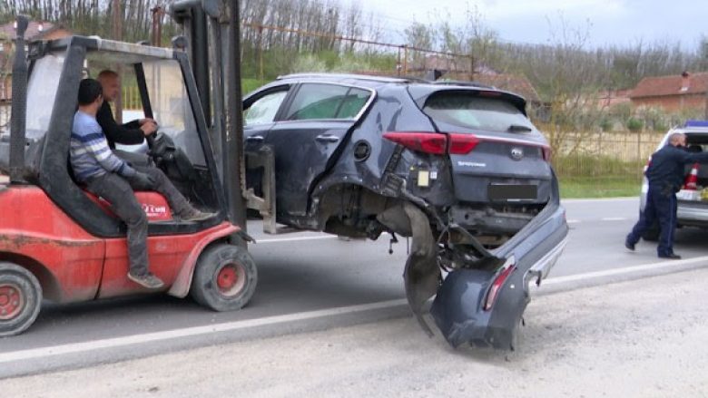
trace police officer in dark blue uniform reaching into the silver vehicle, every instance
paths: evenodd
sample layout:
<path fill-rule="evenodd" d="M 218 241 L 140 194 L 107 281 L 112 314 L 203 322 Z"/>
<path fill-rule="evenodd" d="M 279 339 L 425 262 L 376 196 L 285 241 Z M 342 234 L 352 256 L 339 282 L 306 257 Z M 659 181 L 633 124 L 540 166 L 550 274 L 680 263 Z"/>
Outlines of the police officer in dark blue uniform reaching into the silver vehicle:
<path fill-rule="evenodd" d="M 661 258 L 679 259 L 674 253 L 674 229 L 676 228 L 676 192 L 681 189 L 684 178 L 684 165 L 689 163 L 708 163 L 708 152 L 690 153 L 685 150 L 686 135 L 676 132 L 669 136 L 669 143 L 652 155 L 646 179 L 649 191 L 646 193 L 646 205 L 639 215 L 639 221 L 624 240 L 624 246 L 634 250 L 634 245 L 642 237 L 646 228 L 658 219 L 661 227 L 659 247 L 656 252 Z"/>

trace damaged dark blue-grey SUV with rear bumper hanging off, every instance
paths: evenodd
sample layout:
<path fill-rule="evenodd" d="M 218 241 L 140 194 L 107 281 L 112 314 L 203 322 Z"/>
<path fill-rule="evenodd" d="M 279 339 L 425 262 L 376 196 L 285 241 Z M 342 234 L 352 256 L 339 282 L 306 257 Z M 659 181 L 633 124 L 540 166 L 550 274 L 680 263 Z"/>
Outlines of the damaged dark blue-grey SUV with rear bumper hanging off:
<path fill-rule="evenodd" d="M 291 228 L 412 238 L 404 279 L 450 345 L 513 348 L 529 302 L 565 248 L 567 224 L 526 101 L 470 83 L 293 74 L 245 97 L 247 169 Z M 264 171 L 265 170 L 265 171 Z M 272 175 L 274 183 L 265 183 Z"/>

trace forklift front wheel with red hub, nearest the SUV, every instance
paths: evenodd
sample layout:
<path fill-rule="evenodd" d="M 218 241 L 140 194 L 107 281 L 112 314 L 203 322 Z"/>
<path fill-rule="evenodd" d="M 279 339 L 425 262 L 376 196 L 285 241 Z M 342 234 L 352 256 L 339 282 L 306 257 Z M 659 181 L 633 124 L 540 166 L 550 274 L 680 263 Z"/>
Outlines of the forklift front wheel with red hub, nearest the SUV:
<path fill-rule="evenodd" d="M 244 248 L 216 244 L 197 260 L 190 294 L 214 311 L 233 311 L 248 304 L 256 290 L 256 264 Z"/>

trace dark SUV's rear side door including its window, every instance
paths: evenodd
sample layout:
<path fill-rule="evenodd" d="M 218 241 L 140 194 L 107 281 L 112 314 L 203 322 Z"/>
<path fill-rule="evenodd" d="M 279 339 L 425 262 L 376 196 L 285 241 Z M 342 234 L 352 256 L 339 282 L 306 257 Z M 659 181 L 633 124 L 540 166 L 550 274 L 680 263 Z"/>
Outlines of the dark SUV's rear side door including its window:
<path fill-rule="evenodd" d="M 301 83 L 265 139 L 275 152 L 278 219 L 307 214 L 312 184 L 329 170 L 351 127 L 373 101 L 369 89 Z"/>

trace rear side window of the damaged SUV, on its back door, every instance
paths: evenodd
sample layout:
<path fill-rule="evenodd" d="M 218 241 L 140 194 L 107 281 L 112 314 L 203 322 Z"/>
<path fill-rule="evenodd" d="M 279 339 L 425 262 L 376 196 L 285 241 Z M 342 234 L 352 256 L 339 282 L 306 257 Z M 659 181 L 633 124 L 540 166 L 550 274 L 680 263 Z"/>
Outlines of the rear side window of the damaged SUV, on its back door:
<path fill-rule="evenodd" d="M 286 121 L 354 119 L 366 105 L 371 92 L 355 87 L 306 83 L 295 94 Z"/>

